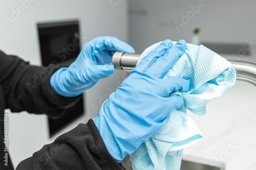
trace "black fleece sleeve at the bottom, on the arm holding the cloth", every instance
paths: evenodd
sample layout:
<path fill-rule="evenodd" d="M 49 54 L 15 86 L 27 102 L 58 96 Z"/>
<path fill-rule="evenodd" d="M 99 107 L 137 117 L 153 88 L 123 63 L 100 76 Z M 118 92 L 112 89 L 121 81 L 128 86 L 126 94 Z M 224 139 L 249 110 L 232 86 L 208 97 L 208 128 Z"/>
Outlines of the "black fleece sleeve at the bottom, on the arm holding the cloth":
<path fill-rule="evenodd" d="M 60 135 L 32 157 L 20 162 L 16 170 L 28 169 L 124 169 L 108 152 L 92 119 Z"/>

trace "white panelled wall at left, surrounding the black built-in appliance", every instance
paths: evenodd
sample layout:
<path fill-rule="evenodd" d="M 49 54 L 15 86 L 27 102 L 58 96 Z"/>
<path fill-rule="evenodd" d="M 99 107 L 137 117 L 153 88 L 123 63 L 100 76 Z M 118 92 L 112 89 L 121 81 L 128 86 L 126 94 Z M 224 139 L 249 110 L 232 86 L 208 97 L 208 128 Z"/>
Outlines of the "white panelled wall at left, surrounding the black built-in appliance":
<path fill-rule="evenodd" d="M 41 64 L 37 22 L 79 19 L 80 34 L 86 37 L 83 43 L 103 35 L 115 36 L 127 42 L 126 1 L 115 6 L 113 10 L 109 1 L 103 0 L 37 0 L 31 3 L 18 19 L 10 23 L 10 27 L 6 25 L 4 17 L 11 17 L 11 10 L 16 10 L 21 4 L 14 0 L 0 0 L 0 4 L 0 49 L 7 54 L 15 54 L 30 61 L 32 64 Z M 101 97 L 107 98 L 109 93 L 107 88 L 117 86 L 116 83 L 120 83 L 125 76 L 123 72 L 117 71 L 114 76 L 88 90 L 84 102 L 86 114 L 52 139 L 49 139 L 45 115 L 32 115 L 26 112 L 9 114 L 9 148 L 14 165 L 32 156 L 35 151 L 53 141 L 58 135 L 69 131 L 79 123 L 87 123 L 89 118 L 95 117 L 97 111 L 92 106 L 98 105 L 99 108 L 98 102 Z M 107 95 L 104 96 L 105 94 Z"/>

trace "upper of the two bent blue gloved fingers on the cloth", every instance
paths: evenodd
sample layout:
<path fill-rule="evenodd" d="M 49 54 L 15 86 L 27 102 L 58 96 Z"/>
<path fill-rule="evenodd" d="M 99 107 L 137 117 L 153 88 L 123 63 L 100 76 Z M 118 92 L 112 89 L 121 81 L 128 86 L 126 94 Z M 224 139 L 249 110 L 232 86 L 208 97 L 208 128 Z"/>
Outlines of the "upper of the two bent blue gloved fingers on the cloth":
<path fill-rule="evenodd" d="M 177 76 L 162 79 L 160 86 L 162 86 L 163 89 L 166 89 L 165 96 L 176 91 L 187 92 L 194 87 L 190 80 L 182 79 Z"/>

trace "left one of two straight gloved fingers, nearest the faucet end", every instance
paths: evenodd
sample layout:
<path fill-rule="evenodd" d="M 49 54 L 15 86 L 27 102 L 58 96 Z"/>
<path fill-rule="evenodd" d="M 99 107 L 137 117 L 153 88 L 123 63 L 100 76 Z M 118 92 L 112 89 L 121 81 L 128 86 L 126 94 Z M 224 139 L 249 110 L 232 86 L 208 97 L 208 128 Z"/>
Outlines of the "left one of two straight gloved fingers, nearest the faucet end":
<path fill-rule="evenodd" d="M 135 70 L 145 70 L 149 68 L 159 57 L 162 57 L 166 51 L 173 46 L 172 40 L 164 40 L 152 52 L 148 53 L 136 67 Z"/>

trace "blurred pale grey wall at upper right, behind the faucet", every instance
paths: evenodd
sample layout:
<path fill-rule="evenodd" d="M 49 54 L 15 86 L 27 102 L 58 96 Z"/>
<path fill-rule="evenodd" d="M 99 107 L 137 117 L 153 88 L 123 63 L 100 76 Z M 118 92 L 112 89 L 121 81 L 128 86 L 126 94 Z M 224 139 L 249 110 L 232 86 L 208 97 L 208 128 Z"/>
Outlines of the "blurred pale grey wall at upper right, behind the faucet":
<path fill-rule="evenodd" d="M 197 13 L 193 12 L 194 17 L 188 18 L 188 23 L 183 22 L 184 27 L 178 32 L 174 22 L 182 24 L 182 14 L 190 14 L 193 11 L 190 6 L 199 6 L 201 1 L 205 2 L 204 7 L 200 7 Z M 245 39 L 250 38 L 256 42 L 255 6 L 256 1 L 252 0 L 131 0 L 130 43 L 137 53 L 141 53 L 146 47 L 165 39 L 190 42 L 197 27 L 202 28 L 202 42 L 244 44 Z"/>

